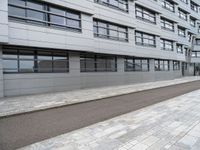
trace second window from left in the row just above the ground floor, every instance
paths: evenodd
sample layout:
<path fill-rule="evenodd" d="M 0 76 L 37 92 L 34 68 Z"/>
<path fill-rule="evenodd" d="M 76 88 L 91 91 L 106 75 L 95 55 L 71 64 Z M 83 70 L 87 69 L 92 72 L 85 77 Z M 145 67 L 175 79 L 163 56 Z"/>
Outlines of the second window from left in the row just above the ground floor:
<path fill-rule="evenodd" d="M 128 28 L 105 21 L 94 20 L 94 36 L 118 41 L 128 41 Z"/>

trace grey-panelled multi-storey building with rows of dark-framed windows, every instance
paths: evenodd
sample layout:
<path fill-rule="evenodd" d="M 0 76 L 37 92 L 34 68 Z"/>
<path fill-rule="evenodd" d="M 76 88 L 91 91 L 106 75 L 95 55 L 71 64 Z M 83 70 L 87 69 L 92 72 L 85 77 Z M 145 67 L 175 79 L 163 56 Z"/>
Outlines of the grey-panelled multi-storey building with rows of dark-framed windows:
<path fill-rule="evenodd" d="M 194 75 L 199 5 L 199 0 L 1 0 L 0 96 Z"/>

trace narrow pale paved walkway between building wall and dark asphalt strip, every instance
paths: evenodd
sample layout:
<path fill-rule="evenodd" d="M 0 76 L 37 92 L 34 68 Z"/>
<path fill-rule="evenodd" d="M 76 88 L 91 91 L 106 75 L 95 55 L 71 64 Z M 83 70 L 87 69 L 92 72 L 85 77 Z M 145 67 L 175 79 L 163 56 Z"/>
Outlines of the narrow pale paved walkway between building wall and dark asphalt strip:
<path fill-rule="evenodd" d="M 200 80 L 200 77 L 184 77 L 174 80 L 141 84 L 3 98 L 0 99 L 0 117 L 92 101 L 197 80 Z"/>

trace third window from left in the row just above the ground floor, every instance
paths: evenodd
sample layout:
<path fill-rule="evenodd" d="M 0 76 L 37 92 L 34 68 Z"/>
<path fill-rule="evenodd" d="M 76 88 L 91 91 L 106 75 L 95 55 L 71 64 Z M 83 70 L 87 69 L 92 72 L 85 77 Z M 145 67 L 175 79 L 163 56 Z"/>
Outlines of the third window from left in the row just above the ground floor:
<path fill-rule="evenodd" d="M 156 47 L 156 37 L 154 35 L 136 31 L 135 40 L 137 45 Z"/>

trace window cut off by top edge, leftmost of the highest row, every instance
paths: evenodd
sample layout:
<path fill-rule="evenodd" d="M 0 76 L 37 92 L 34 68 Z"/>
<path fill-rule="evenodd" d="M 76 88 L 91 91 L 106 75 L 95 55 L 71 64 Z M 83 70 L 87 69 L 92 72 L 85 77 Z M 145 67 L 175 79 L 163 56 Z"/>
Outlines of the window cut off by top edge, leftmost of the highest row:
<path fill-rule="evenodd" d="M 128 12 L 128 0 L 94 0 L 96 3 Z"/>

